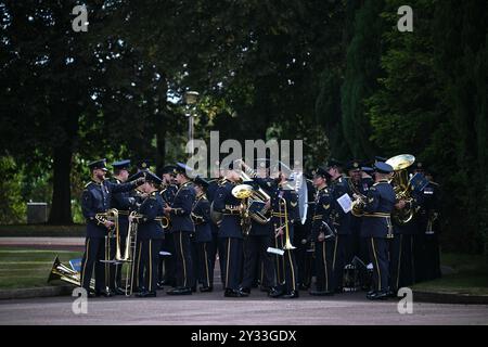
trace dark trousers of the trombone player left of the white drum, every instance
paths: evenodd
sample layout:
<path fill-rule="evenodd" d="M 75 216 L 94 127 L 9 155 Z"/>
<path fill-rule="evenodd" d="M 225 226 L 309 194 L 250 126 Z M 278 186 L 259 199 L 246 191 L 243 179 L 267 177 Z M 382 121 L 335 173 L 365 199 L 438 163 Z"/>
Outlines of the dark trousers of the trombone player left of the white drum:
<path fill-rule="evenodd" d="M 274 239 L 274 247 L 283 249 L 284 244 L 284 235 Z M 277 255 L 274 259 L 278 286 L 286 293 L 298 291 L 296 282 L 298 273 L 293 249 L 285 249 L 282 256 Z"/>

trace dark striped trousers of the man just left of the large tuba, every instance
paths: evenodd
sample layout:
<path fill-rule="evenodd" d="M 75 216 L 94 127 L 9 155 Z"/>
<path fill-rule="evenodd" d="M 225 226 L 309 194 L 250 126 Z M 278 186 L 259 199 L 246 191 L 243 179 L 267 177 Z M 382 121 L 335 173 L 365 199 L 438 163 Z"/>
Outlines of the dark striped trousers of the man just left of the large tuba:
<path fill-rule="evenodd" d="M 373 287 L 375 292 L 388 288 L 388 241 L 384 237 L 369 237 L 368 247 L 373 262 Z"/>

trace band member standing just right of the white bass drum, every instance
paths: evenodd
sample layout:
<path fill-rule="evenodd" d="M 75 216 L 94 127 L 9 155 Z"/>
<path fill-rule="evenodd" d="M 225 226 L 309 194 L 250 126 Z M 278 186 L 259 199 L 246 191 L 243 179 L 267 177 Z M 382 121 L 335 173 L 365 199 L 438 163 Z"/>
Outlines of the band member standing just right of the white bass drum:
<path fill-rule="evenodd" d="M 334 246 L 336 230 L 331 220 L 334 204 L 328 181 L 331 176 L 323 168 L 318 168 L 313 176 L 317 197 L 312 222 L 312 241 L 316 244 L 317 290 L 311 295 L 334 295 Z"/>

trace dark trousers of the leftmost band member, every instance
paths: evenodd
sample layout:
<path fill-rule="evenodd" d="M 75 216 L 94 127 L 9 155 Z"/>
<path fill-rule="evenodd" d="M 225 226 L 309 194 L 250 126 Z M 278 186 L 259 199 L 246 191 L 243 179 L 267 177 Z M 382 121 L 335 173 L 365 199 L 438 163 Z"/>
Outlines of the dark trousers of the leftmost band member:
<path fill-rule="evenodd" d="M 93 273 L 95 277 L 95 291 L 105 291 L 106 270 L 108 266 L 100 260 L 105 259 L 105 239 L 104 237 L 87 237 L 85 240 L 85 255 L 81 260 L 81 286 L 90 292 L 90 281 Z"/>

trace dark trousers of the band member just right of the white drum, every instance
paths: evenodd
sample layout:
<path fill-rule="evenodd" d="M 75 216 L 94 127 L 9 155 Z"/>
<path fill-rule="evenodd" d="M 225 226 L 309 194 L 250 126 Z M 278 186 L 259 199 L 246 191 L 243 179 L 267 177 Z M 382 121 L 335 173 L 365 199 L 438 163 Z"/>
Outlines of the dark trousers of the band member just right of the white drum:
<path fill-rule="evenodd" d="M 334 240 L 316 241 L 316 269 L 317 291 L 333 292 L 335 290 L 335 278 L 332 265 L 334 262 Z"/>

